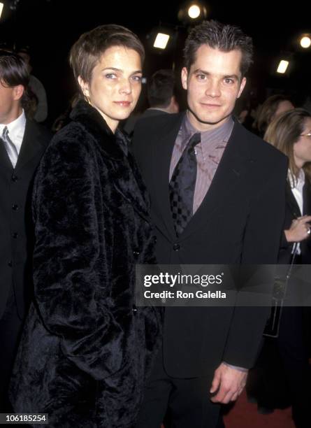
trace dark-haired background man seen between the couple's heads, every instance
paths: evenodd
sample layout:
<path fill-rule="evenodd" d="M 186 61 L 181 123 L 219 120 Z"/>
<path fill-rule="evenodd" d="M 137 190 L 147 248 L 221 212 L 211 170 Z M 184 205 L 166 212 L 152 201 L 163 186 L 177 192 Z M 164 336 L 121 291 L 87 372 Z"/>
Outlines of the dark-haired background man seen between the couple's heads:
<path fill-rule="evenodd" d="M 124 124 L 124 131 L 131 136 L 136 123 L 147 117 L 178 113 L 179 106 L 175 97 L 175 76 L 173 70 L 161 69 L 152 74 L 147 83 L 147 99 L 150 108 L 142 115 L 129 117 Z"/>

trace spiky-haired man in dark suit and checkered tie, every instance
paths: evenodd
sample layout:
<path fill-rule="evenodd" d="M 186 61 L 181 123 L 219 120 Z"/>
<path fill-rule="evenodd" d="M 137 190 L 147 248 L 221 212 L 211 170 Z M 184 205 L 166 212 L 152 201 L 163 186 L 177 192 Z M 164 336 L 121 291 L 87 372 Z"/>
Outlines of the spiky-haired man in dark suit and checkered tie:
<path fill-rule="evenodd" d="M 145 120 L 133 138 L 150 192 L 158 262 L 274 264 L 287 159 L 231 115 L 252 40 L 236 27 L 205 21 L 191 30 L 184 53 L 187 113 Z M 163 348 L 138 427 L 158 428 L 165 415 L 171 427 L 215 427 L 219 404 L 236 400 L 245 386 L 267 317 L 268 308 L 238 305 L 166 308 Z"/>

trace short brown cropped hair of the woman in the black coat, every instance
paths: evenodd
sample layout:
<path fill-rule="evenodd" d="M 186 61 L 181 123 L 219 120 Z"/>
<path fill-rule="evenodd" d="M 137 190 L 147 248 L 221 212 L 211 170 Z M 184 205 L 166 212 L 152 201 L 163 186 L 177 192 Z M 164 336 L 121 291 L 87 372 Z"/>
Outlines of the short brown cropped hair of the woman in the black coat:
<path fill-rule="evenodd" d="M 141 62 L 145 59 L 145 50 L 138 36 L 121 25 L 100 25 L 83 33 L 72 46 L 69 62 L 73 69 L 75 80 L 78 76 L 86 83 L 92 79 L 92 71 L 100 61 L 101 55 L 112 46 L 125 46 L 136 50 Z"/>

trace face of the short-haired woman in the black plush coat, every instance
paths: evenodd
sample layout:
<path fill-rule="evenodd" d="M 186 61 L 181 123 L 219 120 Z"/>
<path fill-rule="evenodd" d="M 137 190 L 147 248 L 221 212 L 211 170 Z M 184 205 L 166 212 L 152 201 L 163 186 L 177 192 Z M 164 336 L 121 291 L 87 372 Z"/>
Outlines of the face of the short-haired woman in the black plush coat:
<path fill-rule="evenodd" d="M 89 103 L 99 110 L 115 132 L 120 120 L 129 117 L 141 90 L 142 66 L 138 52 L 125 46 L 108 48 L 92 71 L 90 83 L 78 78 Z"/>

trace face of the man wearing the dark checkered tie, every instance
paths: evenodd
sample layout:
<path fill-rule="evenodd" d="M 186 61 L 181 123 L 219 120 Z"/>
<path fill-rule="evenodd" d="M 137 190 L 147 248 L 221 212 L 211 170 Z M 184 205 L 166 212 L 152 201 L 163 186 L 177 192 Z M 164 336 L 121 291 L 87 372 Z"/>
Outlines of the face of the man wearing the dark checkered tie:
<path fill-rule="evenodd" d="M 246 79 L 241 79 L 242 52 L 222 52 L 201 45 L 188 73 L 182 69 L 187 90 L 189 120 L 200 131 L 219 127 L 231 115 Z"/>

